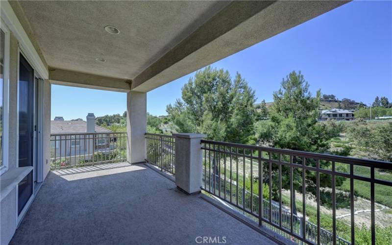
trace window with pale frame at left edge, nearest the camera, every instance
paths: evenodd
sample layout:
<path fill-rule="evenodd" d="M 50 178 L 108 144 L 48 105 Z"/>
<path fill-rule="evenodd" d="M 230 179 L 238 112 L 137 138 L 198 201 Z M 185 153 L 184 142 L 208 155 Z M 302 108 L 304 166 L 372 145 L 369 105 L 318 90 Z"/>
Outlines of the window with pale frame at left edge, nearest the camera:
<path fill-rule="evenodd" d="M 2 20 L 0 49 L 0 172 L 3 173 L 8 170 L 9 30 Z"/>

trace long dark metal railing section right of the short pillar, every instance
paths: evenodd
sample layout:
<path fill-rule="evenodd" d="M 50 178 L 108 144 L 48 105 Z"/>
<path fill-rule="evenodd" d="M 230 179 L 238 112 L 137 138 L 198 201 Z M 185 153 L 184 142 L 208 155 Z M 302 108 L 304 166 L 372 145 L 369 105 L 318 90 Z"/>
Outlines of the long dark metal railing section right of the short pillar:
<path fill-rule="evenodd" d="M 392 163 L 209 140 L 201 148 L 205 192 L 297 242 L 355 244 L 354 180 L 368 183 L 369 241 L 375 244 L 375 185 L 392 187 L 375 171 L 391 171 Z M 343 181 L 348 192 L 337 190 Z M 350 212 L 346 223 L 336 218 L 342 199 Z M 326 207 L 327 214 L 321 212 Z M 348 234 L 338 234 L 337 225 L 348 227 Z"/>

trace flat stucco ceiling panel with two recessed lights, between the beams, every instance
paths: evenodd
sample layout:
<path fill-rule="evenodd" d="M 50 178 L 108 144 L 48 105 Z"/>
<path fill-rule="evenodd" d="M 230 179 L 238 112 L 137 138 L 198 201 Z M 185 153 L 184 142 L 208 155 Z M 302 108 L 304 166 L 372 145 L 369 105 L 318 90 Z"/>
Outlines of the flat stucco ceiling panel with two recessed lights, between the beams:
<path fill-rule="evenodd" d="M 132 79 L 227 1 L 20 1 L 50 67 Z M 104 26 L 113 25 L 112 35 Z M 106 59 L 105 63 L 95 60 Z"/>

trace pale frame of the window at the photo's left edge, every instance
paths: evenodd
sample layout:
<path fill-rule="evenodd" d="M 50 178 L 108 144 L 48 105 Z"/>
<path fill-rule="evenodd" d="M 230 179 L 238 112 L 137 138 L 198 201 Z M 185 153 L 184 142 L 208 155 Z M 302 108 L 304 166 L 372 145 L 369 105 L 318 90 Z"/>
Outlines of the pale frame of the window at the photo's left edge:
<path fill-rule="evenodd" d="M 3 74 L 3 139 L 2 139 L 2 163 L 0 175 L 8 171 L 8 147 L 9 147 L 9 52 L 10 52 L 10 31 L 1 19 L 0 28 L 4 32 L 4 74 Z"/>

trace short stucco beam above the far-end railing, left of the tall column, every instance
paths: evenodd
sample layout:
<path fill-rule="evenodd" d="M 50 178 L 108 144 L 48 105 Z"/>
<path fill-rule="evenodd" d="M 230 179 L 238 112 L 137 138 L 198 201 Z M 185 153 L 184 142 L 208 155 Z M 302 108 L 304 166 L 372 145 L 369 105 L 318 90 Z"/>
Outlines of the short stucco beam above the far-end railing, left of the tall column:
<path fill-rule="evenodd" d="M 131 84 L 131 81 L 125 79 L 56 68 L 49 69 L 49 80 L 51 84 L 116 92 L 129 92 Z"/>

